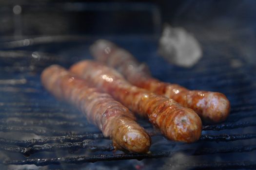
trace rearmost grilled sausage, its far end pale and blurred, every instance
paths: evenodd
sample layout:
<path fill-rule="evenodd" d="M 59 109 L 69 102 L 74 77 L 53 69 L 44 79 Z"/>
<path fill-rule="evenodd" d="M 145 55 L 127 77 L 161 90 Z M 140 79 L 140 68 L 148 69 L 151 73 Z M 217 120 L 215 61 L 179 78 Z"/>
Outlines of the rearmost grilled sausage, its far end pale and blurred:
<path fill-rule="evenodd" d="M 222 93 L 189 90 L 177 84 L 164 83 L 151 77 L 145 64 L 140 64 L 128 51 L 107 40 L 98 40 L 90 48 L 99 62 L 116 68 L 133 85 L 159 95 L 165 95 L 184 107 L 193 109 L 209 123 L 224 121 L 230 112 L 230 102 Z"/>

